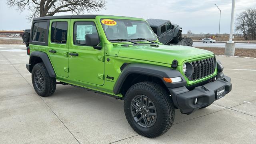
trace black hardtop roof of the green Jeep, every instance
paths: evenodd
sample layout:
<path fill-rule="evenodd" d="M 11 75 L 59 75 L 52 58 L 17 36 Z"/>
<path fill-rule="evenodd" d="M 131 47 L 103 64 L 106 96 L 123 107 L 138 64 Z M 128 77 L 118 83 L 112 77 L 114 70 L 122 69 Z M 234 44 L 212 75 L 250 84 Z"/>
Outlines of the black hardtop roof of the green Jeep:
<path fill-rule="evenodd" d="M 96 16 L 112 16 L 112 15 L 86 14 L 86 15 L 67 15 L 67 16 L 43 16 L 43 17 L 34 18 L 34 20 L 71 19 L 71 18 L 95 18 Z"/>

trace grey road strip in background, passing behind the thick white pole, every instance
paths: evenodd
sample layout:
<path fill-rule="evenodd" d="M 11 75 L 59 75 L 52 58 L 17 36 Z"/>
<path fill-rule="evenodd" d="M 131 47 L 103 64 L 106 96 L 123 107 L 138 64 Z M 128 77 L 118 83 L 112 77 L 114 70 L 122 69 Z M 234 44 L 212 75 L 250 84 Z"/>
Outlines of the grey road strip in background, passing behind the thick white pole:
<path fill-rule="evenodd" d="M 211 48 L 225 48 L 225 43 L 202 43 L 202 42 L 193 42 L 194 47 L 211 47 Z M 256 44 L 246 44 L 246 43 L 236 43 L 235 48 L 248 48 L 256 49 Z"/>

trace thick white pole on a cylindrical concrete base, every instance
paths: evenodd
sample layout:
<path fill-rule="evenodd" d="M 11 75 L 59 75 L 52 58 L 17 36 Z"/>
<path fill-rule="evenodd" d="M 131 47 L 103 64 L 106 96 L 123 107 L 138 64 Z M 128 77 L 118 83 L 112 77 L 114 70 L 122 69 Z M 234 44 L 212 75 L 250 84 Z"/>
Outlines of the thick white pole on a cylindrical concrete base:
<path fill-rule="evenodd" d="M 235 43 L 234 43 L 234 41 L 232 41 L 234 13 L 235 13 L 235 0 L 232 0 L 229 41 L 226 43 L 226 46 L 225 46 L 225 55 L 226 56 L 234 56 L 235 55 Z"/>

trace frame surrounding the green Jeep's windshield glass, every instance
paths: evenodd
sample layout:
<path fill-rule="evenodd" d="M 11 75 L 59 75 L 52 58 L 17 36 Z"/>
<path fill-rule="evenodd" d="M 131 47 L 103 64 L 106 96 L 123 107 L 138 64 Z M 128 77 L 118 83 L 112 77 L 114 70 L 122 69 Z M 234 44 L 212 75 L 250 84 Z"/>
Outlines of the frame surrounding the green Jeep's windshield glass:
<path fill-rule="evenodd" d="M 100 24 L 101 24 L 101 26 L 102 26 L 102 29 L 103 29 L 103 31 L 104 31 L 104 34 L 105 34 L 105 36 L 106 36 L 106 38 L 107 38 L 107 40 L 108 40 L 108 42 L 110 42 L 110 43 L 131 43 L 131 42 L 121 42 L 121 41 L 111 41 L 111 39 L 110 38 L 108 38 L 108 36 L 106 35 L 106 31 L 105 31 L 105 29 L 104 29 L 104 24 L 102 24 L 102 20 L 104 20 L 104 19 L 106 19 L 106 18 L 100 18 Z M 108 19 L 110 19 L 110 20 L 131 20 L 131 19 L 122 19 L 122 18 L 108 18 Z M 153 33 L 153 35 L 154 35 L 154 40 L 151 40 L 151 41 L 158 41 L 158 38 L 156 37 L 156 35 L 154 34 L 154 31 L 152 30 L 152 28 L 149 26 L 149 24 L 145 21 L 145 20 L 131 20 L 131 21 L 140 21 L 140 22 L 144 22 L 147 26 L 148 26 L 148 28 L 149 28 L 149 30 Z M 133 39 L 133 38 L 131 38 L 131 39 Z M 126 40 L 131 40 L 131 39 L 126 39 Z M 146 38 L 147 39 L 147 38 Z M 132 41 L 134 41 L 134 42 L 148 42 L 147 40 L 132 40 Z"/>

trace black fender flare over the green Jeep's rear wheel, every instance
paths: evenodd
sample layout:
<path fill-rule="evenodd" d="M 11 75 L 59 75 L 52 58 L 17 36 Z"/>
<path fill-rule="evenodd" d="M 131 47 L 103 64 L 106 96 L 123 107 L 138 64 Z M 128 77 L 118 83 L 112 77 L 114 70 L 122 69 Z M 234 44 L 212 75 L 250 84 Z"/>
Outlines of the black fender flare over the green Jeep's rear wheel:
<path fill-rule="evenodd" d="M 48 57 L 48 55 L 45 52 L 40 52 L 40 51 L 34 51 L 30 53 L 30 57 L 29 57 L 29 64 L 28 64 L 28 71 L 32 72 L 32 66 L 31 64 L 32 62 L 32 58 L 33 57 L 39 57 L 42 59 L 42 61 L 44 62 L 44 65 L 46 67 L 46 70 L 49 74 L 50 77 L 55 78 L 56 74 L 54 72 L 54 69 L 52 67 L 52 63 L 50 62 L 50 59 Z"/>

